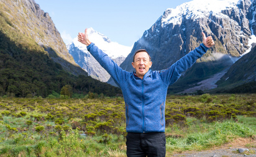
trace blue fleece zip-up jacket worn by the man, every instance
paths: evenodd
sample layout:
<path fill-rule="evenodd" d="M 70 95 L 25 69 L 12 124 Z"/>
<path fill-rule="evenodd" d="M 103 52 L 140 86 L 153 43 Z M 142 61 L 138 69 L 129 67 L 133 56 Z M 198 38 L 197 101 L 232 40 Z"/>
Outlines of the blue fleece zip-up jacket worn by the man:
<path fill-rule="evenodd" d="M 134 73 L 122 70 L 94 43 L 87 49 L 121 88 L 126 104 L 126 131 L 137 133 L 165 132 L 165 99 L 168 86 L 175 83 L 181 73 L 208 50 L 201 43 L 198 48 L 166 70 L 149 70 L 140 79 Z"/>

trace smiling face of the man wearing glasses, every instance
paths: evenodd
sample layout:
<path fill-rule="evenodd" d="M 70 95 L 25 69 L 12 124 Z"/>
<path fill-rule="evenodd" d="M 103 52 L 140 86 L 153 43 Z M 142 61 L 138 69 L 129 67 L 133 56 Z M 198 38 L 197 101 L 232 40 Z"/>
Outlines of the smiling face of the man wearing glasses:
<path fill-rule="evenodd" d="M 143 79 L 145 73 L 147 73 L 149 68 L 151 68 L 152 61 L 150 61 L 147 52 L 139 52 L 134 56 L 134 62 L 132 62 L 132 66 L 135 68 L 137 76 Z"/>

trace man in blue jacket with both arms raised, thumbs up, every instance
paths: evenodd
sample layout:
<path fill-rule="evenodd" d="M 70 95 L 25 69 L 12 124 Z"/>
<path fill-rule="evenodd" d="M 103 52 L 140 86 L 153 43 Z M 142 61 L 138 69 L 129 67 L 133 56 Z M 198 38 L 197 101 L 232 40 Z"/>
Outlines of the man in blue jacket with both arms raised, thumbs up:
<path fill-rule="evenodd" d="M 135 73 L 122 70 L 103 51 L 89 41 L 87 29 L 78 34 L 78 41 L 112 76 L 122 89 L 126 104 L 127 156 L 165 156 L 165 99 L 167 88 L 180 78 L 183 71 L 201 58 L 214 45 L 206 38 L 198 48 L 183 56 L 166 70 L 151 71 L 152 61 L 146 50 L 134 54 Z"/>

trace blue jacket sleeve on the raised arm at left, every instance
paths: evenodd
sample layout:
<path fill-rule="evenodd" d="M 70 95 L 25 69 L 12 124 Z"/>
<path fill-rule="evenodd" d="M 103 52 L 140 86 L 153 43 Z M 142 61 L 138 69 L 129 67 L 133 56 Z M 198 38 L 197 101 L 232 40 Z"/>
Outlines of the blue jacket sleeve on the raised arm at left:
<path fill-rule="evenodd" d="M 102 50 L 100 50 L 94 43 L 88 45 L 87 50 L 93 55 L 93 57 L 99 62 L 99 64 L 109 73 L 114 79 L 117 86 L 126 79 L 127 71 L 122 70 L 114 61 L 107 56 Z"/>

